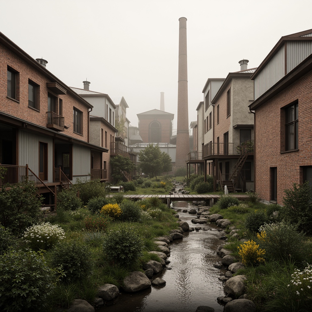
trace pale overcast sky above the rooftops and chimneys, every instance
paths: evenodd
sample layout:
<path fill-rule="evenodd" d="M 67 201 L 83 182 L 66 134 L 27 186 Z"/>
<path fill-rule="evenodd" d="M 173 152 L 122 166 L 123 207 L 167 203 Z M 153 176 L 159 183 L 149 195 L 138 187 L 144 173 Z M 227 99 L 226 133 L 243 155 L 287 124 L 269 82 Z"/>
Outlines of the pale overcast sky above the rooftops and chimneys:
<path fill-rule="evenodd" d="M 189 124 L 208 78 L 257 67 L 280 37 L 312 28 L 312 1 L 0 0 L 0 31 L 66 85 L 124 96 L 136 114 L 160 108 L 177 124 L 178 36 L 187 18 Z"/>

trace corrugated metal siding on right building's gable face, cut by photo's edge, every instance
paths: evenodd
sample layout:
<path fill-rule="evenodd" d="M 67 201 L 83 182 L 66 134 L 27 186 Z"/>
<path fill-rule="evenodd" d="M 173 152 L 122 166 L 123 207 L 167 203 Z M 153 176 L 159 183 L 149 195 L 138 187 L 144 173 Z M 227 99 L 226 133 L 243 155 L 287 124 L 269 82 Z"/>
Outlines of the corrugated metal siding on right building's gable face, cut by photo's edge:
<path fill-rule="evenodd" d="M 307 36 L 306 36 L 307 37 Z M 312 53 L 311 41 L 287 42 L 287 73 L 299 65 Z"/>

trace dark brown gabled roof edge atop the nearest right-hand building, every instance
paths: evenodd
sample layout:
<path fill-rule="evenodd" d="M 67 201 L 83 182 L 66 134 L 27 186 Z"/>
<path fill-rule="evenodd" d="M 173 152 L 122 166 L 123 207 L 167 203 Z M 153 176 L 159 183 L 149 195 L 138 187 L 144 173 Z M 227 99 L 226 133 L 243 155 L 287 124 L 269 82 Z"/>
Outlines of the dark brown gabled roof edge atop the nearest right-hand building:
<path fill-rule="evenodd" d="M 271 58 L 275 55 L 275 53 L 280 49 L 280 47 L 286 41 L 311 41 L 312 40 L 312 29 L 305 30 L 303 32 L 295 32 L 294 34 L 290 34 L 287 36 L 283 36 L 280 40 L 275 44 L 270 53 L 266 56 L 266 58 L 261 62 L 256 71 L 250 77 L 253 80 L 258 73 L 262 70 L 264 66 L 271 60 Z"/>

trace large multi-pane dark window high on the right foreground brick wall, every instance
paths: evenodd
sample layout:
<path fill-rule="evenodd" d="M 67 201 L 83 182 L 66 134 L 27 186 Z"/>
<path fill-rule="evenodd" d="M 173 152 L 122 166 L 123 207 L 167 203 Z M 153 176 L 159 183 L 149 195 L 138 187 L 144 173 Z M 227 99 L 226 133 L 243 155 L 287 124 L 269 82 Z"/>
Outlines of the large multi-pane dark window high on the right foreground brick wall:
<path fill-rule="evenodd" d="M 298 102 L 285 108 L 285 151 L 298 149 Z"/>

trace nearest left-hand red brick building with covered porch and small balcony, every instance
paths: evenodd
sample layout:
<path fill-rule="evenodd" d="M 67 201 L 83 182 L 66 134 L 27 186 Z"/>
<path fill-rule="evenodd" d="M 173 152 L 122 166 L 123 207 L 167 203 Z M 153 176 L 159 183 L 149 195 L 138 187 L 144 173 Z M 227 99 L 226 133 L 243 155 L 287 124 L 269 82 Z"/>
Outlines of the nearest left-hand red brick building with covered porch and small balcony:
<path fill-rule="evenodd" d="M 56 190 L 90 179 L 91 154 L 107 149 L 89 143 L 92 105 L 0 33 L 1 183 L 33 180 L 47 205 Z"/>

